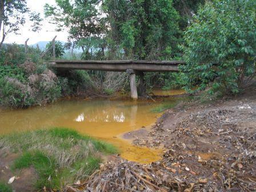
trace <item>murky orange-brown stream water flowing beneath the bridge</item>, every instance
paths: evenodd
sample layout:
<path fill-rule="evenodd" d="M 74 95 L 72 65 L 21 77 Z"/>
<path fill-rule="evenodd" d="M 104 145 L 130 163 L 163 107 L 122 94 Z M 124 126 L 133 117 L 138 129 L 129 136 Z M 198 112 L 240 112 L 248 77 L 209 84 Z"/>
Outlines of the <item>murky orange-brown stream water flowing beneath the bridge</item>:
<path fill-rule="evenodd" d="M 46 107 L 26 110 L 0 111 L 0 134 L 14 131 L 70 127 L 92 137 L 113 143 L 121 157 L 130 161 L 149 163 L 161 159 L 161 149 L 148 149 L 131 145 L 123 133 L 151 126 L 159 117 L 152 113 L 155 107 L 177 102 L 163 101 L 59 101 Z"/>

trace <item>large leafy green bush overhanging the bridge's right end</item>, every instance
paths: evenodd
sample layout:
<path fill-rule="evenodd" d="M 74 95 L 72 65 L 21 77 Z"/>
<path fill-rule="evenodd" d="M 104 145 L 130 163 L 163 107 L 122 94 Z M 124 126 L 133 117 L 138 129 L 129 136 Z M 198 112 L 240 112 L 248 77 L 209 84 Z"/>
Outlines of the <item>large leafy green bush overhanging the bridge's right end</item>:
<path fill-rule="evenodd" d="M 187 89 L 210 86 L 209 93 L 235 94 L 255 74 L 256 2 L 207 2 L 185 34 Z"/>

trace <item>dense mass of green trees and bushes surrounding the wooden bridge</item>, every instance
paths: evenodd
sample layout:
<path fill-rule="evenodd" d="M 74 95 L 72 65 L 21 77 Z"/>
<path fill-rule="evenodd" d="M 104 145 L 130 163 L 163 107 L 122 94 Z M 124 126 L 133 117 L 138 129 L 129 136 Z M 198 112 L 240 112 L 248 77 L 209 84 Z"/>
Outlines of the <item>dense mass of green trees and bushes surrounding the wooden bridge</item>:
<path fill-rule="evenodd" d="M 10 3 L 17 6 L 17 1 Z M 26 7 L 26 3 L 21 6 Z M 8 21 L 17 17 L 2 15 Z M 59 58 L 66 58 L 66 49 L 71 59 L 185 59 L 183 73 L 145 73 L 147 89 L 185 86 L 190 92 L 207 89 L 215 95 L 237 94 L 254 79 L 253 0 L 206 3 L 203 0 L 58 0 L 55 6 L 45 5 L 45 15 L 56 24 L 57 30 L 69 30 L 65 45 L 55 42 Z M 38 29 L 39 15 L 31 19 Z M 17 23 L 20 25 L 23 24 Z M 75 54 L 75 48 L 82 49 L 82 54 Z M 1 105 L 27 107 L 67 95 L 129 91 L 125 73 L 78 70 L 55 73 L 43 64 L 52 57 L 51 42 L 46 49 L 50 51 L 41 57 L 42 50 L 33 47 L 26 54 L 21 45 L 2 47 Z"/>

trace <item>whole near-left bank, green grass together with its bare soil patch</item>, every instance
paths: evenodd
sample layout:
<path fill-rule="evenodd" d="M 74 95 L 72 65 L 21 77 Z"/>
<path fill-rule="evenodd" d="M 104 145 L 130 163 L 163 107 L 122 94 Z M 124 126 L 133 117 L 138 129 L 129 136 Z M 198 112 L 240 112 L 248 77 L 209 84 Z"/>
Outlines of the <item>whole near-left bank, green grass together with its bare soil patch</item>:
<path fill-rule="evenodd" d="M 61 191 L 99 169 L 117 148 L 66 128 L 0 137 L 0 183 L 15 191 Z M 5 184 L 6 185 L 6 184 Z M 0 185 L 0 191 L 6 192 Z"/>

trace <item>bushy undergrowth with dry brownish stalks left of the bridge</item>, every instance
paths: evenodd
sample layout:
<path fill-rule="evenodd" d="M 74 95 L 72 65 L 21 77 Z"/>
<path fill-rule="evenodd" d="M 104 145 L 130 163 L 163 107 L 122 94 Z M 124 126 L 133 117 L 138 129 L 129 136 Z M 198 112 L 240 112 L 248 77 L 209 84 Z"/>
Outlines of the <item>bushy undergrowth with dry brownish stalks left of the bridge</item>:
<path fill-rule="evenodd" d="M 58 78 L 43 64 L 38 50 L 30 47 L 25 55 L 21 45 L 4 45 L 1 54 L 0 105 L 25 108 L 53 102 L 61 96 Z"/>

